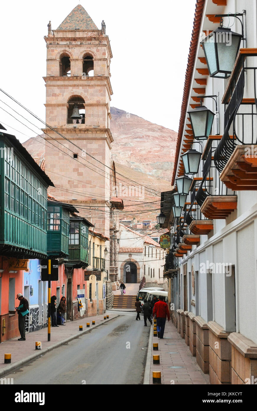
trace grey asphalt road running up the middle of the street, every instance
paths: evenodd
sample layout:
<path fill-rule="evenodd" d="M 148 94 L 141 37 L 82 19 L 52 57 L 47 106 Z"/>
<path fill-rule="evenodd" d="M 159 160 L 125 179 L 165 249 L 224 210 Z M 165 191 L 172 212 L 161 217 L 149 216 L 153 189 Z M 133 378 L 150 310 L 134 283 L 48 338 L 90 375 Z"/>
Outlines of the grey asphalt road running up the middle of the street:
<path fill-rule="evenodd" d="M 122 313 L 5 377 L 18 385 L 142 384 L 150 326 L 135 316 Z"/>

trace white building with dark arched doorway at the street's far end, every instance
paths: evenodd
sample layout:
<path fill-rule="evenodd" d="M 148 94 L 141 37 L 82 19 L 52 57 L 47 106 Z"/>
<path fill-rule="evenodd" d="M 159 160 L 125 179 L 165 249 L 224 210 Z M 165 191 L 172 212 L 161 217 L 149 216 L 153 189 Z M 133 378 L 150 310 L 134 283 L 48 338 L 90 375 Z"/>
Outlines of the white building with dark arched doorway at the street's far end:
<path fill-rule="evenodd" d="M 119 224 L 118 279 L 125 283 L 163 284 L 165 250 L 151 237 Z"/>

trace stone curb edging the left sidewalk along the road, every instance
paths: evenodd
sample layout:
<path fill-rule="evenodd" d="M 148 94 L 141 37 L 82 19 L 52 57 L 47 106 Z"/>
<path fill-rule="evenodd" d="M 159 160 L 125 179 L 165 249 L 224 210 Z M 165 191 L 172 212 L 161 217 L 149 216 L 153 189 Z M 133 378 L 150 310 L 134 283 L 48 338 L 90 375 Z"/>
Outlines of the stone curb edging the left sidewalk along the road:
<path fill-rule="evenodd" d="M 101 326 L 104 323 L 107 323 L 110 320 L 113 320 L 114 318 L 119 317 L 119 314 L 115 315 L 112 318 L 109 318 L 108 320 L 103 320 L 100 324 L 97 324 L 95 326 L 92 326 L 91 328 L 89 328 L 89 330 L 84 330 L 84 331 L 80 331 L 77 334 L 71 335 L 71 337 L 67 337 L 65 339 L 63 339 L 62 341 L 58 341 L 55 344 L 53 344 L 52 346 L 45 348 L 44 350 L 37 350 L 36 353 L 31 354 L 30 356 L 23 358 L 23 360 L 18 360 L 16 361 L 16 363 L 8 365 L 5 369 L 2 369 L 0 371 L 0 376 L 7 374 L 8 372 L 12 371 L 13 369 L 16 369 L 18 367 L 21 367 L 21 365 L 24 365 L 26 363 L 28 363 L 31 360 L 34 360 L 35 358 L 38 358 L 40 356 L 42 356 L 43 354 L 46 354 L 49 351 L 52 351 L 53 349 L 60 347 L 62 344 L 65 344 L 66 342 L 72 341 L 73 339 L 80 337 L 80 335 L 84 335 L 87 332 L 90 332 L 91 330 L 93 330 L 94 328 L 97 328 L 99 326 Z"/>

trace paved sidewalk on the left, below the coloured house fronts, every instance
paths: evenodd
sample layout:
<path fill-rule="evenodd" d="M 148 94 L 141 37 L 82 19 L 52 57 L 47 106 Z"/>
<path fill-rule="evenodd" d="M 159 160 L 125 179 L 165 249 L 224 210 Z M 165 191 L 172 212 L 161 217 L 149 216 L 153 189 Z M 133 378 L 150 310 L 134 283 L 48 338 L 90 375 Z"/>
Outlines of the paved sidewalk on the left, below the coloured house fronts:
<path fill-rule="evenodd" d="M 104 320 L 103 317 L 106 314 L 98 315 L 94 317 L 87 317 L 76 321 L 68 321 L 65 326 L 51 327 L 51 341 L 48 339 L 47 327 L 39 331 L 26 332 L 26 341 L 18 341 L 20 336 L 9 339 L 0 344 L 0 375 L 8 371 L 10 366 L 20 367 L 22 363 L 31 360 L 34 356 L 39 356 L 41 353 L 46 352 L 46 349 L 53 349 L 58 344 L 65 342 L 64 340 L 76 338 L 76 335 L 83 335 L 85 330 L 95 328 L 101 323 L 109 321 L 117 317 L 115 313 L 108 312 L 109 319 Z M 92 320 L 95 321 L 95 326 L 92 326 Z M 90 327 L 87 328 L 87 323 L 90 323 Z M 79 326 L 83 326 L 83 331 L 79 331 Z M 41 341 L 41 351 L 35 350 L 36 341 Z M 5 354 L 11 353 L 11 364 L 5 364 Z"/>

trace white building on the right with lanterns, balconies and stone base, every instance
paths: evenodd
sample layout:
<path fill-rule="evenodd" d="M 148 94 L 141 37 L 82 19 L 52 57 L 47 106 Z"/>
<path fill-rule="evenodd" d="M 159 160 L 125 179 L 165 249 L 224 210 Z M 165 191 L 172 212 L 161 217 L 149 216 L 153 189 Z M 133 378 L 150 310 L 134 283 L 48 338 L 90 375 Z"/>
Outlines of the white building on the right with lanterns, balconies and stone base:
<path fill-rule="evenodd" d="M 162 203 L 172 320 L 211 384 L 257 377 L 256 21 L 256 1 L 197 0 L 170 194 L 184 203 Z"/>

